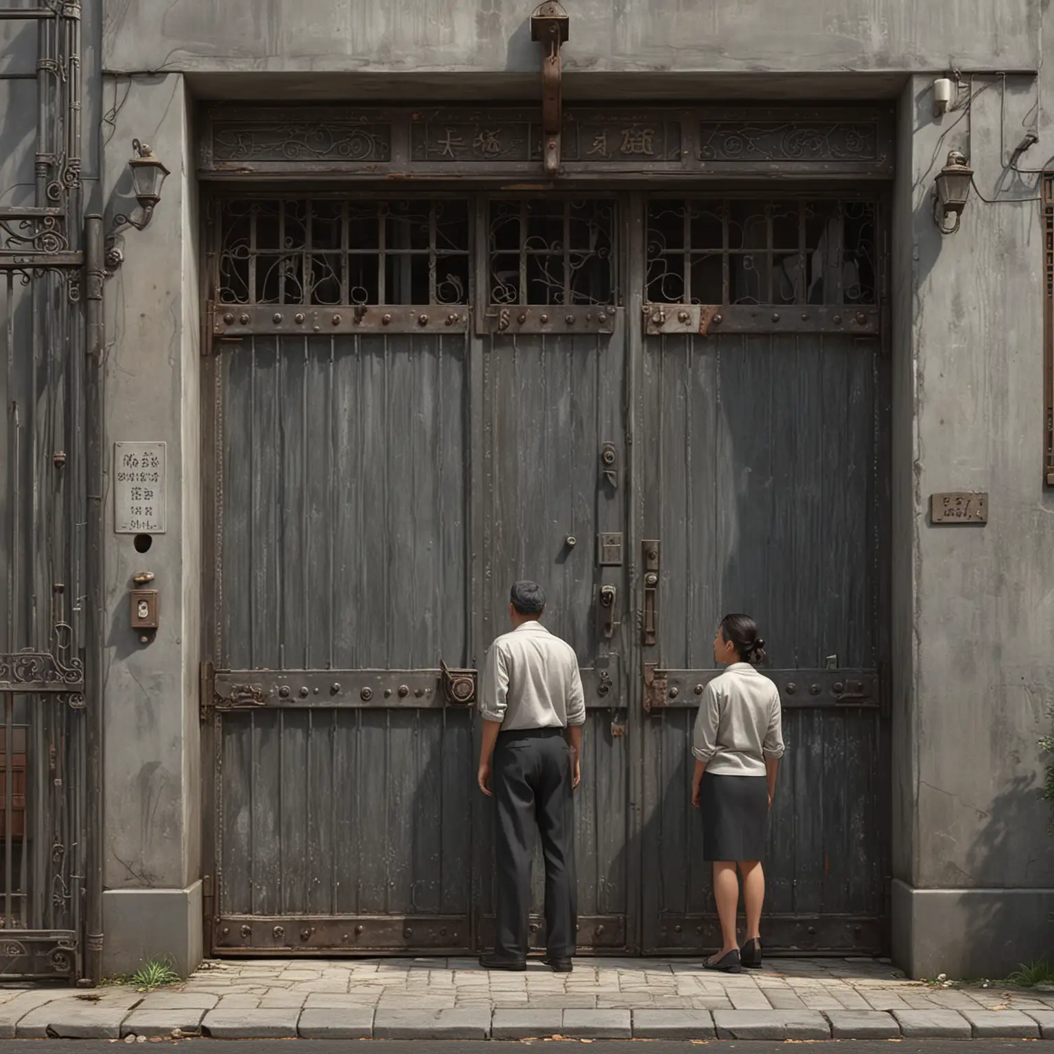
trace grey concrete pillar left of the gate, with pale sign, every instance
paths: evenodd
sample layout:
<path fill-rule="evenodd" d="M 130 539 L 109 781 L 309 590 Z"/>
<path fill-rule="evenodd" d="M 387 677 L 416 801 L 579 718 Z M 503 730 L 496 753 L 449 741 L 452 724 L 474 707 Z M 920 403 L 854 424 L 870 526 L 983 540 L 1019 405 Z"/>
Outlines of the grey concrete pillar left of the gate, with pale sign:
<path fill-rule="evenodd" d="M 144 956 L 171 956 L 183 969 L 200 958 L 199 307 L 183 79 L 108 79 L 105 95 L 116 100 L 104 155 L 108 219 L 136 208 L 133 138 L 153 145 L 172 172 L 150 227 L 122 235 L 124 264 L 105 287 L 108 471 L 117 441 L 168 444 L 167 532 L 139 553 L 133 535 L 114 533 L 108 521 L 104 962 L 113 973 Z M 109 479 L 105 493 L 111 518 Z M 149 644 L 129 627 L 129 589 L 140 570 L 154 572 L 160 593 L 160 628 Z M 144 918 L 154 920 L 145 931 Z"/>

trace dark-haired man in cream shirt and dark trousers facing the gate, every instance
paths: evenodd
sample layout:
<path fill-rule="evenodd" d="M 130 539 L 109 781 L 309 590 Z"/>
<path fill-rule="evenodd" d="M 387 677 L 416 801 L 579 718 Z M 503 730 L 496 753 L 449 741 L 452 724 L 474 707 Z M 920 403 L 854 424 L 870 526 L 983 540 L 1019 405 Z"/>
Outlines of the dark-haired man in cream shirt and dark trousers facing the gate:
<path fill-rule="evenodd" d="M 480 694 L 480 789 L 494 798 L 497 878 L 494 954 L 480 962 L 490 970 L 527 969 L 536 824 L 545 857 L 545 961 L 570 973 L 578 926 L 571 792 L 582 778 L 582 678 L 574 649 L 539 622 L 542 587 L 518 582 L 510 601 L 512 632 L 490 646 Z"/>

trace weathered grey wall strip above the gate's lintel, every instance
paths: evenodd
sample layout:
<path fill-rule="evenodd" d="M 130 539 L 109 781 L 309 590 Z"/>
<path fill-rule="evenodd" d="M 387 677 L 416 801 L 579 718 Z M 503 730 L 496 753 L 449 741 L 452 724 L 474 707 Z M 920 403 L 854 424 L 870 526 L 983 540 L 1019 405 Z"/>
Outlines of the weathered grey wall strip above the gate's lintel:
<path fill-rule="evenodd" d="M 114 72 L 530 71 L 532 0 L 106 0 Z M 1040 0 L 568 0 L 569 73 L 1034 70 Z"/>

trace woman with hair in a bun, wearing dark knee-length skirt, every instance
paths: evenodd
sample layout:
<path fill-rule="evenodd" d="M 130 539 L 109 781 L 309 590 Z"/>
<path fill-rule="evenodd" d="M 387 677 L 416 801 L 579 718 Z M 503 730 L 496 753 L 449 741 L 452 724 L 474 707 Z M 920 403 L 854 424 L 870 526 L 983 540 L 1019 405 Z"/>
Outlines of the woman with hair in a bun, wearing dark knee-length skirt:
<path fill-rule="evenodd" d="M 726 614 L 714 638 L 714 658 L 728 668 L 706 686 L 696 717 L 691 803 L 703 813 L 703 859 L 714 864 L 714 898 L 723 944 L 704 965 L 738 974 L 761 965 L 761 905 L 768 811 L 783 756 L 780 694 L 754 668 L 765 657 L 754 620 Z M 743 876 L 746 940 L 736 940 L 736 906 Z"/>

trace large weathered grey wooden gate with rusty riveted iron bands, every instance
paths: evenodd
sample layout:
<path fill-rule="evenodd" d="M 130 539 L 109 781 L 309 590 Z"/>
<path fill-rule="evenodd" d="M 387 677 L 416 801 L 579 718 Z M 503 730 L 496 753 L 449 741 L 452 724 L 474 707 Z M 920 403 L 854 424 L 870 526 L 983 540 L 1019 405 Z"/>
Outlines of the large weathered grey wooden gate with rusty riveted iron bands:
<path fill-rule="evenodd" d="M 473 129 L 411 154 L 492 160 Z M 586 691 L 582 950 L 715 940 L 689 737 L 727 610 L 784 704 L 768 945 L 884 945 L 880 201 L 600 186 L 210 200 L 217 954 L 488 945 L 472 704 L 516 578 Z"/>

